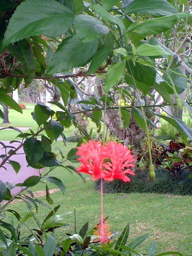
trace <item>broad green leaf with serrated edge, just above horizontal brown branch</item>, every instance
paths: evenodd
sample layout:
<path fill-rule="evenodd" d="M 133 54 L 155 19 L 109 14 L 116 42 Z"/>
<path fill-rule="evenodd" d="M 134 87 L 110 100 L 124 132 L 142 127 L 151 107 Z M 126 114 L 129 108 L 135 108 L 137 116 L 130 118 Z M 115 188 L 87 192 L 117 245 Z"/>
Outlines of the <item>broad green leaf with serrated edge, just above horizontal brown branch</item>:
<path fill-rule="evenodd" d="M 54 52 L 47 74 L 60 73 L 71 68 L 83 67 L 97 51 L 98 39 L 83 43 L 74 35 L 63 40 Z"/>

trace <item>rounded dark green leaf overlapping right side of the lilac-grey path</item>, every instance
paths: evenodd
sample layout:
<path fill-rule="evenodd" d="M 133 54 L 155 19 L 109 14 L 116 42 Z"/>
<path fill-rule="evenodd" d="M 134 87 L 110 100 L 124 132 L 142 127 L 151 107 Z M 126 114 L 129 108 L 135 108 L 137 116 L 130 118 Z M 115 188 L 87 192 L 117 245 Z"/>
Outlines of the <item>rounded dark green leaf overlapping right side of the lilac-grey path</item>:
<path fill-rule="evenodd" d="M 23 144 L 23 150 L 31 164 L 36 164 L 44 156 L 44 147 L 36 138 L 29 138 Z"/>

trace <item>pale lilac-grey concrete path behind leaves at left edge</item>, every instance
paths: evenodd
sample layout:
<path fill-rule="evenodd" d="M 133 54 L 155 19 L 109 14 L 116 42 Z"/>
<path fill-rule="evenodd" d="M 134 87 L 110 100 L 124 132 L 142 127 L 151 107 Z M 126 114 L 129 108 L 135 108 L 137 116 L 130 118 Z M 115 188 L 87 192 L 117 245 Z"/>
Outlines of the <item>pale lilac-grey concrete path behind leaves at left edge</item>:
<path fill-rule="evenodd" d="M 22 127 L 23 129 L 23 127 Z M 14 142 L 14 143 L 9 143 L 9 141 L 2 141 L 6 146 L 13 146 L 17 148 L 20 143 L 19 142 Z M 2 145 L 0 145 L 0 154 L 4 154 L 4 149 L 2 149 Z M 9 152 L 9 149 L 7 149 L 7 152 Z M 0 168 L 0 180 L 3 182 L 9 182 L 12 183 L 13 185 L 16 185 L 17 183 L 22 183 L 25 181 L 28 177 L 36 175 L 39 176 L 39 170 L 34 169 L 32 167 L 27 167 L 27 161 L 25 159 L 25 154 L 23 151 L 23 148 L 20 148 L 17 151 L 17 154 L 14 156 L 10 157 L 10 160 L 19 162 L 21 165 L 20 171 L 16 174 L 12 166 L 8 163 L 4 165 L 4 167 L 7 169 L 5 170 L 4 168 Z M 41 169 L 41 172 L 43 172 L 44 169 Z M 12 194 L 16 194 L 20 191 L 20 187 L 15 187 L 11 190 Z"/>

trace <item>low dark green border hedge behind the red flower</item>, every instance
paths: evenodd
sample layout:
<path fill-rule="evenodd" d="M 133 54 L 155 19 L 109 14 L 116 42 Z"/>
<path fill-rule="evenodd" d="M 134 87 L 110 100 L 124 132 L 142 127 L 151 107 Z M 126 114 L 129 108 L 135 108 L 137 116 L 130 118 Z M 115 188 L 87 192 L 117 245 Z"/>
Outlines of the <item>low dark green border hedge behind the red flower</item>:
<path fill-rule="evenodd" d="M 183 171 L 180 179 L 175 181 L 166 169 L 156 169 L 156 179 L 147 181 L 145 172 L 129 175 L 131 181 L 113 180 L 103 183 L 104 193 L 158 193 L 175 195 L 192 195 L 192 179 L 188 178 L 191 172 Z M 100 180 L 95 181 L 94 187 L 100 189 Z"/>

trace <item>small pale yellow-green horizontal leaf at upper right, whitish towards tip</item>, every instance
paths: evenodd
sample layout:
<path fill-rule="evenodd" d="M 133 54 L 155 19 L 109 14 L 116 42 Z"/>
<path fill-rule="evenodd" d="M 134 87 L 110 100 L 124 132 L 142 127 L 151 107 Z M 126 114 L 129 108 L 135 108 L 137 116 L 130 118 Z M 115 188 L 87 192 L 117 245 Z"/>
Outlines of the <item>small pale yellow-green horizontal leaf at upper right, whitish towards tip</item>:
<path fill-rule="evenodd" d="M 160 45 L 151 45 L 151 44 L 140 44 L 136 48 L 136 54 L 141 56 L 158 56 L 163 55 L 164 57 L 168 55 L 175 55 L 173 52 L 166 51 L 164 48 L 162 48 Z"/>

